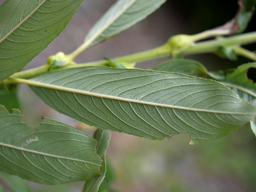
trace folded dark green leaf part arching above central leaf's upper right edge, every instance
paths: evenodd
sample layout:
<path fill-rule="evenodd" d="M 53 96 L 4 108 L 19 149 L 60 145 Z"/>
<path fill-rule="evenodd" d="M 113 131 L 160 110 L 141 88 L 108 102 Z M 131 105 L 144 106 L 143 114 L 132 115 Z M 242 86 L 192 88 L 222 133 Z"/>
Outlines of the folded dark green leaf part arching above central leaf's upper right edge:
<path fill-rule="evenodd" d="M 221 80 L 224 78 L 223 75 L 209 72 L 200 62 L 190 59 L 167 60 L 157 66 L 152 67 L 151 69 L 157 71 L 181 73 L 207 79 L 213 78 Z"/>

